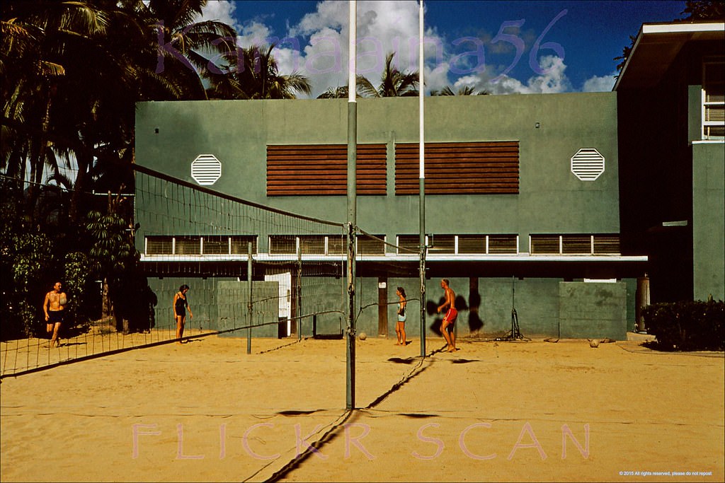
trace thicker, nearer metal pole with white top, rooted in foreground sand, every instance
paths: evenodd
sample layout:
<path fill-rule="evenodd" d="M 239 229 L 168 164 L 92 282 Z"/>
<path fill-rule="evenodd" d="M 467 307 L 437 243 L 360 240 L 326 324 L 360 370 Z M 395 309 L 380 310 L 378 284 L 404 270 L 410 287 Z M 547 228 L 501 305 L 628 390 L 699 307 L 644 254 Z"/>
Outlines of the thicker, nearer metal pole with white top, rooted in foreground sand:
<path fill-rule="evenodd" d="M 347 83 L 347 409 L 355 408 L 355 230 L 357 227 L 357 102 L 355 40 L 357 2 L 349 2 L 349 72 Z"/>

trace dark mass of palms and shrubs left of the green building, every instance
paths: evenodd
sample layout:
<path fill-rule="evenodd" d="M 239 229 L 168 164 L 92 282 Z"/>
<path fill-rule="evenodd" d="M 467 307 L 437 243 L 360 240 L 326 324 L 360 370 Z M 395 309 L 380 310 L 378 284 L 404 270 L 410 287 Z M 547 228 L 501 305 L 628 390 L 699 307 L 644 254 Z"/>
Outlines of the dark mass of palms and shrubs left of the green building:
<path fill-rule="evenodd" d="M 139 300 L 126 287 L 147 288 L 133 213 L 110 202 L 104 209 L 91 192 L 133 191 L 136 102 L 206 98 L 207 56 L 236 39 L 228 25 L 194 21 L 206 4 L 2 2 L 2 337 L 45 331 L 41 305 L 53 282 L 69 295 L 65 329 L 100 315 L 96 280 L 107 280 L 119 312 Z"/>

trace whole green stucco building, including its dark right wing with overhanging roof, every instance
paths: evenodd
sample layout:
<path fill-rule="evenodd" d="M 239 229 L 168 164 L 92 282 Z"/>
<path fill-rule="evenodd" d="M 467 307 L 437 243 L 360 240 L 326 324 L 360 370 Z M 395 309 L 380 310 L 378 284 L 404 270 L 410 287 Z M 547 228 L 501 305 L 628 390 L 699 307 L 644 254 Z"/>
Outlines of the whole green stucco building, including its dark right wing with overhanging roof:
<path fill-rule="evenodd" d="M 707 67 L 722 71 L 723 28 L 684 25 L 666 37 L 644 25 L 610 93 L 426 97 L 426 335 L 439 334 L 441 278 L 459 337 L 511 335 L 515 314 L 526 337 L 621 340 L 650 281 L 652 301 L 725 297 L 723 123 L 703 121 L 723 113 Z M 418 119 L 417 98 L 357 101 L 355 311 L 368 335 L 395 337 L 398 286 L 407 335 L 421 332 Z M 136 140 L 144 176 L 203 193 L 165 208 L 179 198 L 166 184 L 137 186 L 136 240 L 160 301 L 187 283 L 204 328 L 247 317 L 257 336 L 341 335 L 346 100 L 141 103 Z M 273 211 L 222 229 L 240 198 Z M 253 300 L 279 287 L 257 319 L 299 327 L 246 314 L 250 278 Z"/>

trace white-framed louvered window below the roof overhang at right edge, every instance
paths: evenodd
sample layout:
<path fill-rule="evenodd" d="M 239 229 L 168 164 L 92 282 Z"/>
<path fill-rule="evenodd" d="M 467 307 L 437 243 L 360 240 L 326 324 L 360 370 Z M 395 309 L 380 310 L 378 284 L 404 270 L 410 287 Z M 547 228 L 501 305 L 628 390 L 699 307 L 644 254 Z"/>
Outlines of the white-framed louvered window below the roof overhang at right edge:
<path fill-rule="evenodd" d="M 725 139 L 725 60 L 703 62 L 703 139 Z"/>

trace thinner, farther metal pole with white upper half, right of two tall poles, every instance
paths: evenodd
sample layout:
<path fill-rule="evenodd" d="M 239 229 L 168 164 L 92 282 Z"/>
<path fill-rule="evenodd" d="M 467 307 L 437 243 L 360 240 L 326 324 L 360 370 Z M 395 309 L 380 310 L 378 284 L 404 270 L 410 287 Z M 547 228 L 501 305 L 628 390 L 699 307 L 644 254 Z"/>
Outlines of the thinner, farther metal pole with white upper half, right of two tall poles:
<path fill-rule="evenodd" d="M 421 211 L 421 265 L 419 270 L 421 272 L 421 357 L 426 356 L 426 144 L 425 144 L 425 133 L 424 133 L 424 111 L 423 111 L 423 0 L 421 0 L 421 11 L 418 14 L 418 35 L 420 35 L 421 44 L 418 52 L 418 111 L 420 113 L 419 119 L 419 132 L 418 138 L 420 140 L 419 147 L 419 198 Z"/>

